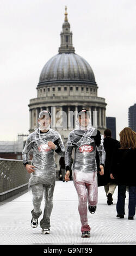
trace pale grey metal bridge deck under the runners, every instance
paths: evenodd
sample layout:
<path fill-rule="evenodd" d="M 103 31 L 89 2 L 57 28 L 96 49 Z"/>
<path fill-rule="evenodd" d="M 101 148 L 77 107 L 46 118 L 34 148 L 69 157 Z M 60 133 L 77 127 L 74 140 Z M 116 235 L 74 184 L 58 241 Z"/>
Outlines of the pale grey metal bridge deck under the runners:
<path fill-rule="evenodd" d="M 81 238 L 78 197 L 73 181 L 56 181 L 50 235 L 43 235 L 40 226 L 30 227 L 32 197 L 27 191 L 20 193 L 0 203 L 0 245 L 135 245 L 136 225 L 135 219 L 128 220 L 128 193 L 124 219 L 116 218 L 117 194 L 118 187 L 113 195 L 114 204 L 109 206 L 104 187 L 98 188 L 97 210 L 94 215 L 88 212 L 90 237 Z M 44 209 L 44 201 L 41 209 Z"/>

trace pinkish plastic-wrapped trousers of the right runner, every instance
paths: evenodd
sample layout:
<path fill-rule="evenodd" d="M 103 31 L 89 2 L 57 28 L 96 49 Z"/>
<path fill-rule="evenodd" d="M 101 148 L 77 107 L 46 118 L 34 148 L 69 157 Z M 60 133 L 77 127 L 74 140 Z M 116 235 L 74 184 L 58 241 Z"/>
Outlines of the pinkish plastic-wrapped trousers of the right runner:
<path fill-rule="evenodd" d="M 73 173 L 73 181 L 78 194 L 78 211 L 81 218 L 81 231 L 89 231 L 88 225 L 88 208 L 94 206 L 98 201 L 97 172 L 89 173 L 89 183 L 76 181 L 76 173 Z"/>

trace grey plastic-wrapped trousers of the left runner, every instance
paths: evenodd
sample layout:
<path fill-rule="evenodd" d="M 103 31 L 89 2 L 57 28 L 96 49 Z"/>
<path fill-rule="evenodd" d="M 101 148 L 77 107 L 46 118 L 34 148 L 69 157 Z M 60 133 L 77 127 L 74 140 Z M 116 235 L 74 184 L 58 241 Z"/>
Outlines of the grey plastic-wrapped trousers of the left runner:
<path fill-rule="evenodd" d="M 46 184 L 35 184 L 32 185 L 32 193 L 33 193 L 33 206 L 32 210 L 33 218 L 39 218 L 41 215 L 41 202 L 44 196 L 45 198 L 45 208 L 44 208 L 44 216 L 40 221 L 41 228 L 50 228 L 50 216 L 53 208 L 53 192 L 54 192 L 54 184 L 46 185 Z"/>

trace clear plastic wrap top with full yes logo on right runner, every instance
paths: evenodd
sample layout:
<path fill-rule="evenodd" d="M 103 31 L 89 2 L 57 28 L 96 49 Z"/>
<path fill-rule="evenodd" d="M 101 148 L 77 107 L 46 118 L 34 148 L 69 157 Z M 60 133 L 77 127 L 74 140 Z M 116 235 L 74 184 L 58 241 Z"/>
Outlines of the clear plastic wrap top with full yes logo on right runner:
<path fill-rule="evenodd" d="M 66 145 L 65 165 L 70 166 L 72 150 L 75 148 L 75 157 L 73 160 L 72 171 L 77 171 L 77 181 L 84 181 L 85 175 L 82 173 L 91 173 L 97 171 L 95 159 L 96 149 L 99 154 L 100 163 L 104 164 L 105 151 L 101 143 L 101 133 L 94 127 L 88 130 L 73 130 L 70 132 Z M 88 175 L 86 175 L 87 177 Z M 85 182 L 88 182 L 87 179 Z"/>

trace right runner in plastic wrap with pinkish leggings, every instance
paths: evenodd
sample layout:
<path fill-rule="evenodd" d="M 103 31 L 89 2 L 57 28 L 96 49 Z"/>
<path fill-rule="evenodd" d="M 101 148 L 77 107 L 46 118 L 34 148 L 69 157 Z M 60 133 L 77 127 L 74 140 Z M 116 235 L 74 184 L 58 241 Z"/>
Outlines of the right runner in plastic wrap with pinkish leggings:
<path fill-rule="evenodd" d="M 96 149 L 100 158 L 100 174 L 104 174 L 105 151 L 101 143 L 101 133 L 91 126 L 89 111 L 78 112 L 76 129 L 71 131 L 66 143 L 65 180 L 69 180 L 70 160 L 73 148 L 75 157 L 72 166 L 73 182 L 78 194 L 78 211 L 81 218 L 81 237 L 90 237 L 87 211 L 94 214 L 97 204 L 97 164 Z M 88 208 L 87 208 L 88 202 Z"/>

